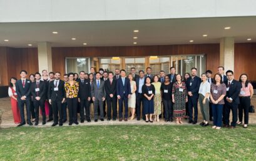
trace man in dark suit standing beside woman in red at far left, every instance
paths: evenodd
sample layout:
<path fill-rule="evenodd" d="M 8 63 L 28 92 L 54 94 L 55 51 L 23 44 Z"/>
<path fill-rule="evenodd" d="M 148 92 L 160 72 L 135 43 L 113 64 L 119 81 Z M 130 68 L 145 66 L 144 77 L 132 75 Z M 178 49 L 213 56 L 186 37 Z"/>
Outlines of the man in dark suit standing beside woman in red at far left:
<path fill-rule="evenodd" d="M 25 115 L 24 115 L 24 104 L 26 104 L 26 112 L 27 112 L 27 123 L 29 125 L 33 125 L 31 123 L 30 117 L 30 85 L 31 81 L 26 79 L 26 76 L 28 74 L 27 71 L 22 70 L 19 72 L 21 79 L 16 82 L 16 93 L 18 95 L 18 105 L 19 105 L 19 112 L 21 115 L 21 124 L 18 126 L 25 125 Z"/>

